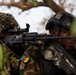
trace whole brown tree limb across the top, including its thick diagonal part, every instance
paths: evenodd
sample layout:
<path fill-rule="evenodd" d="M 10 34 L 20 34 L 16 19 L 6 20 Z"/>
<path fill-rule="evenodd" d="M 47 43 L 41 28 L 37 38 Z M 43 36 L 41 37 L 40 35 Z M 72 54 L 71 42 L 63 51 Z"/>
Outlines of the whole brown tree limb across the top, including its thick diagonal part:
<path fill-rule="evenodd" d="M 44 0 L 44 2 L 38 2 L 37 6 L 34 6 L 32 4 L 32 2 L 26 2 L 26 4 L 23 5 L 22 2 L 12 2 L 12 1 L 10 1 L 10 3 L 0 2 L 0 5 L 1 6 L 5 5 L 5 6 L 9 6 L 9 7 L 15 6 L 15 7 L 22 9 L 22 11 L 29 10 L 33 7 L 38 7 L 38 6 L 50 7 L 54 12 L 65 11 L 63 8 L 61 8 L 59 5 L 57 5 L 53 0 Z"/>

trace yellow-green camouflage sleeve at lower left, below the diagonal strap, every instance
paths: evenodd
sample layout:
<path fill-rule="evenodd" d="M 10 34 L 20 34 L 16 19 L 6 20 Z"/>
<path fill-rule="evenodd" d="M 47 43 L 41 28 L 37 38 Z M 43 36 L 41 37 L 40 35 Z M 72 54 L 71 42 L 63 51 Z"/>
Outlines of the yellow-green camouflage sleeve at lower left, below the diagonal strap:
<path fill-rule="evenodd" d="M 1 75 L 18 75 L 19 73 L 17 72 L 17 70 L 19 59 L 4 44 L 1 44 L 0 46 L 3 51 L 3 66 L 1 69 Z"/>

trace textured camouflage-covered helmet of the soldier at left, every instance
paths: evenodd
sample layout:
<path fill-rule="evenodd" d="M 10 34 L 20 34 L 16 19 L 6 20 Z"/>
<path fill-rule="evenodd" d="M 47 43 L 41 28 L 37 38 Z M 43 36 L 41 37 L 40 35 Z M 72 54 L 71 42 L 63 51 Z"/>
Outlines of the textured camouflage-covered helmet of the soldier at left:
<path fill-rule="evenodd" d="M 4 30 L 17 28 L 19 28 L 19 24 L 11 14 L 0 12 L 0 33 Z"/>

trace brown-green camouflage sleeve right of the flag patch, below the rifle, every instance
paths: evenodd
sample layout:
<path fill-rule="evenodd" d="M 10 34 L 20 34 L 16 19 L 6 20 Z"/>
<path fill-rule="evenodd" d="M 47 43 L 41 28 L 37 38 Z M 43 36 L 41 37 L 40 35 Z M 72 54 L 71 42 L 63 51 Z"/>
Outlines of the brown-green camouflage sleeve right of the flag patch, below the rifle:
<path fill-rule="evenodd" d="M 35 45 L 30 45 L 26 49 L 26 54 L 30 57 L 30 61 L 26 64 L 23 75 L 40 75 L 40 67 L 38 64 L 39 55 L 41 53 L 40 50 L 41 48 Z"/>

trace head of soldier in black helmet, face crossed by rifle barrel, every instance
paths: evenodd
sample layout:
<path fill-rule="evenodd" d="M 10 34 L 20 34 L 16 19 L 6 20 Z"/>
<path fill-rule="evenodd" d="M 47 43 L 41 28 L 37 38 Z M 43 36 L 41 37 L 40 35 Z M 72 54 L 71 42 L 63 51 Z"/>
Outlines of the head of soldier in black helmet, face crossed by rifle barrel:
<path fill-rule="evenodd" d="M 67 12 L 59 12 L 50 18 L 46 24 L 46 30 L 52 36 L 70 36 L 70 29 L 75 17 Z M 66 49 L 70 50 L 74 47 L 73 39 L 58 40 Z"/>

